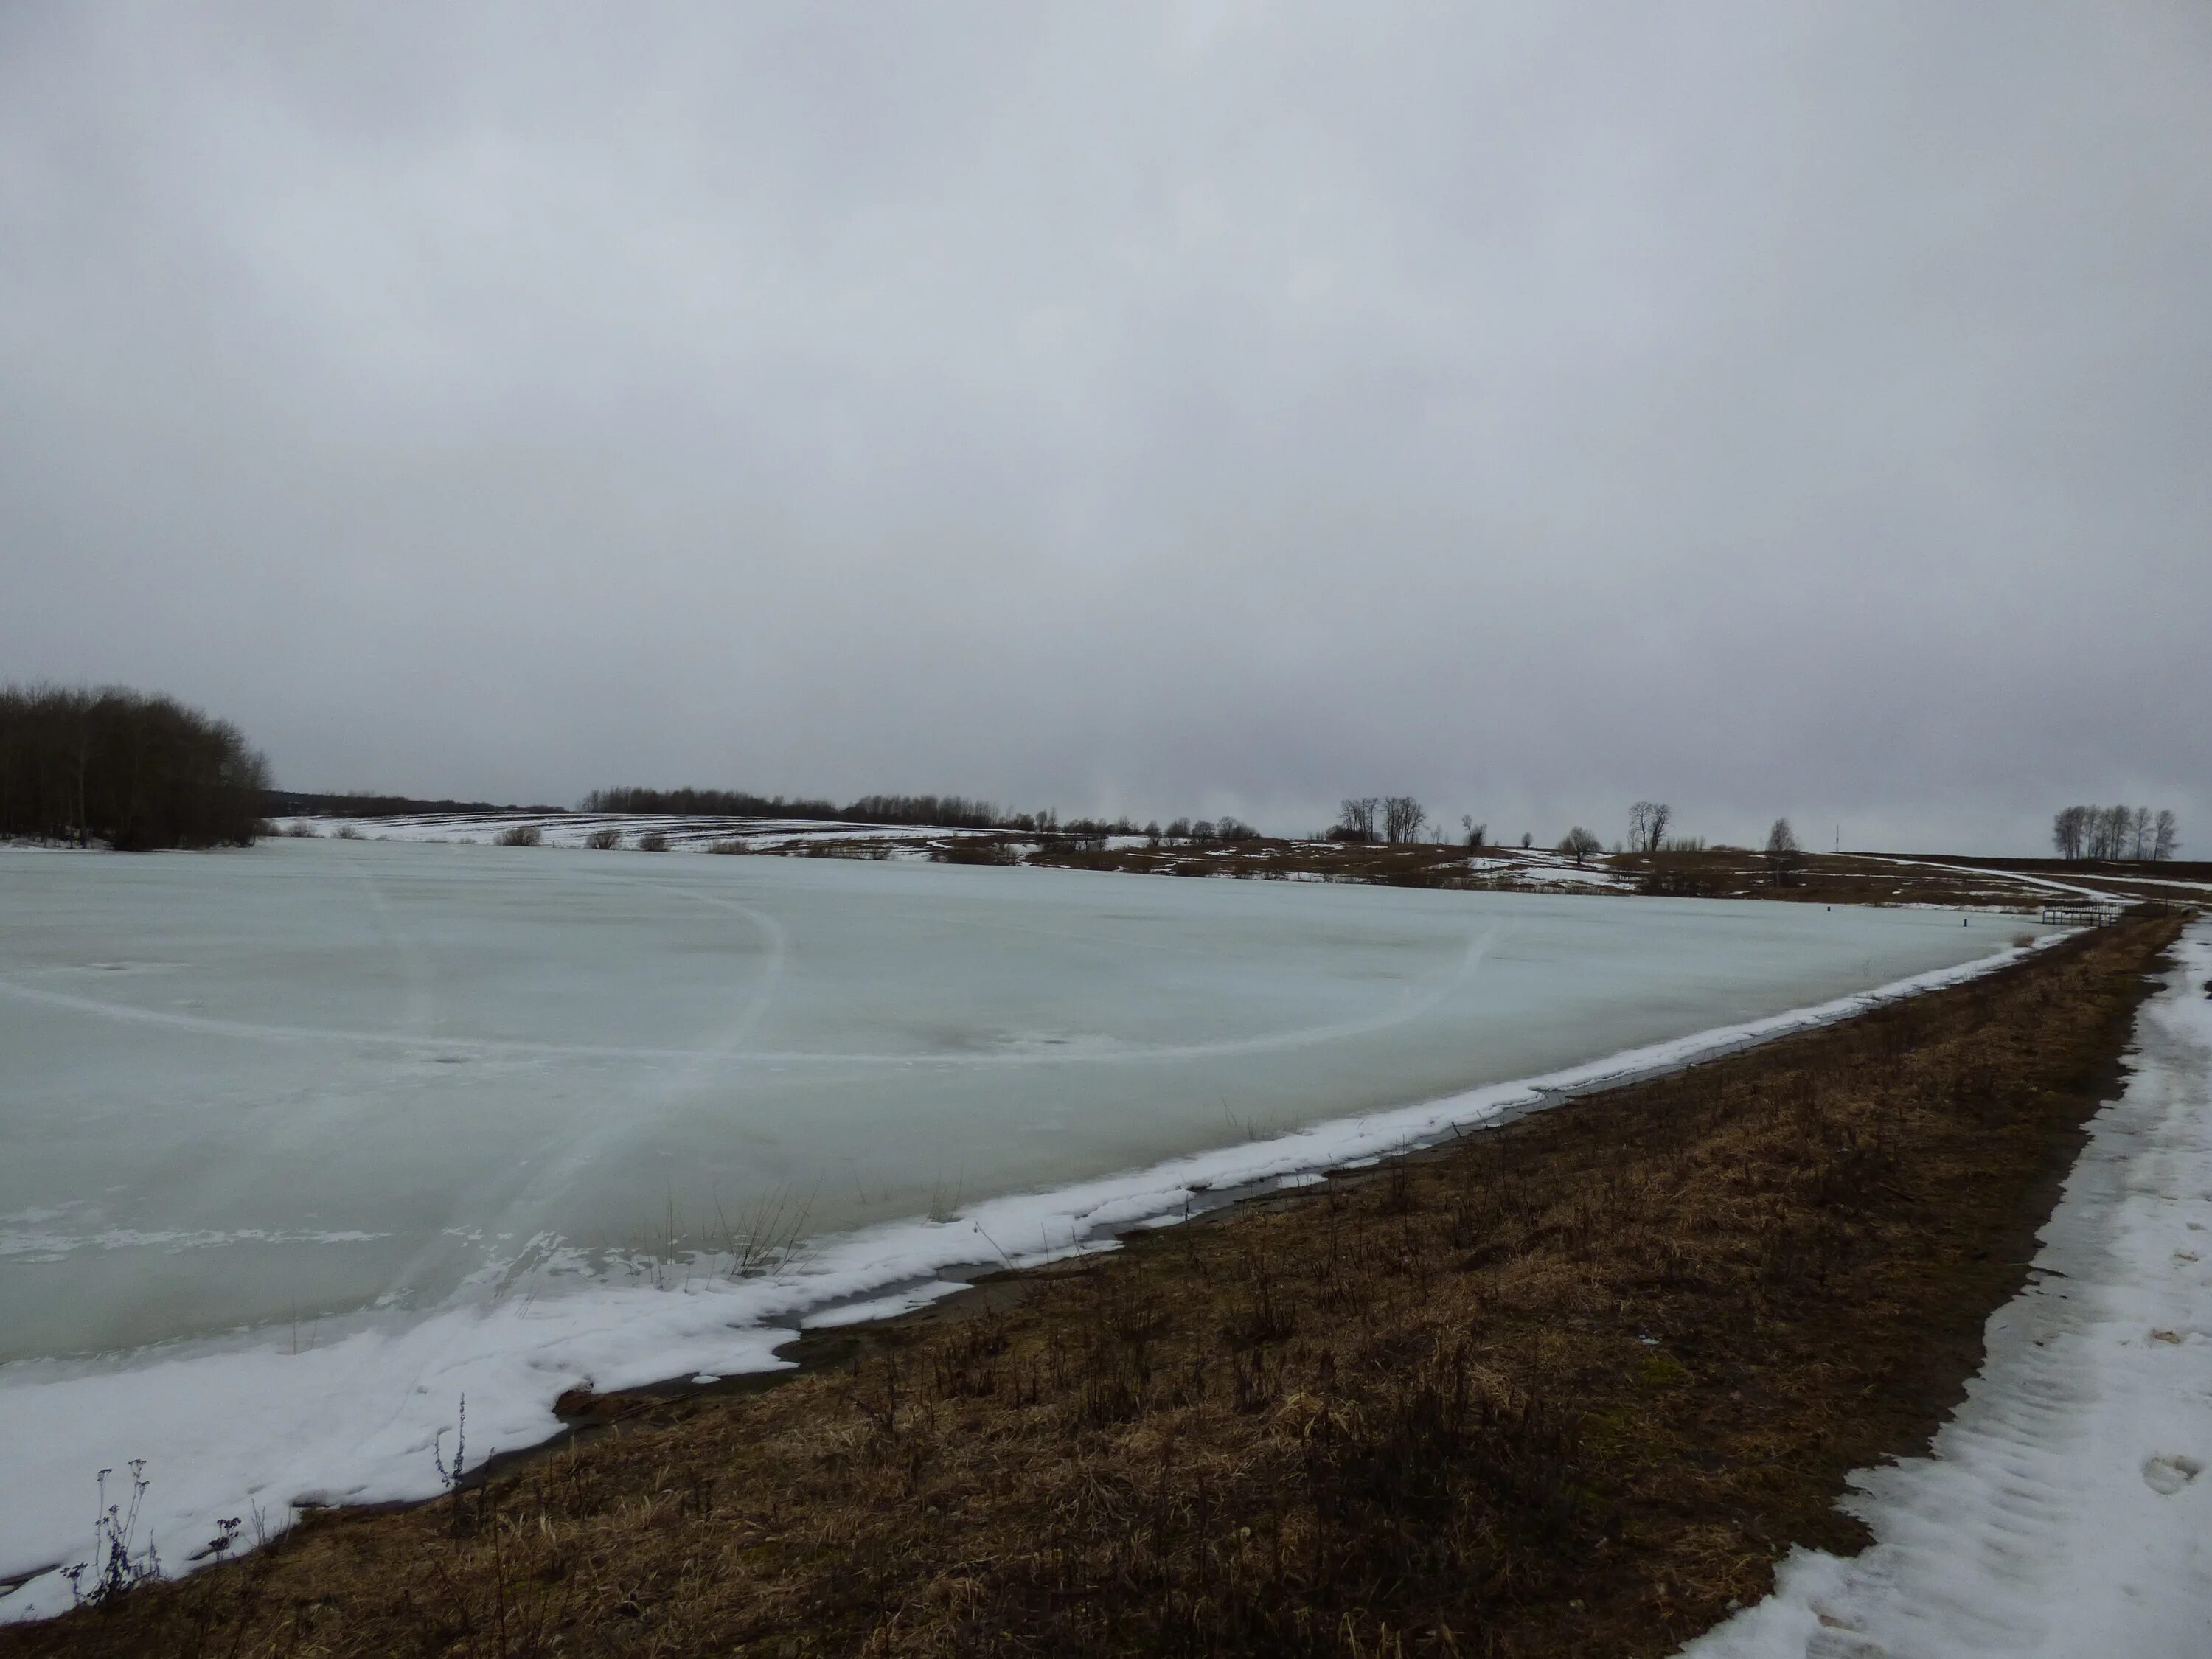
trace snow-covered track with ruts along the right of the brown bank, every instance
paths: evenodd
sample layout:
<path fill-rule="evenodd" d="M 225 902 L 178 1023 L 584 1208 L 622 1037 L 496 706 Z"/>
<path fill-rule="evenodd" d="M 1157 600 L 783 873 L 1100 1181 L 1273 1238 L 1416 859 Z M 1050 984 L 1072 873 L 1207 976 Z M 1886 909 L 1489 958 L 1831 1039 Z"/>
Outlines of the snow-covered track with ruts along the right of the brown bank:
<path fill-rule="evenodd" d="M 1794 1551 L 1683 1655 L 2212 1655 L 2212 922 L 2177 962 L 1966 1402 L 1851 1478 L 1876 1542 Z"/>

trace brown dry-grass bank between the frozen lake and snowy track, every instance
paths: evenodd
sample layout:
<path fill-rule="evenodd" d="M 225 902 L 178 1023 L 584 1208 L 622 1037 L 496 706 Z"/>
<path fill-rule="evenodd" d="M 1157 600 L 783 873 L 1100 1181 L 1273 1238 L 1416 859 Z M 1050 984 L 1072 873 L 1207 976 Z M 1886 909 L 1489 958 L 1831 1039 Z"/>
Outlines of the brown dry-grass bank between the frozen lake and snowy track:
<path fill-rule="evenodd" d="M 1657 1655 L 1851 1548 L 2174 922 L 1139 1234 L 0 1655 Z M 250 1407 L 250 1402 L 248 1402 Z M 164 1553 L 177 1555 L 164 1540 Z"/>

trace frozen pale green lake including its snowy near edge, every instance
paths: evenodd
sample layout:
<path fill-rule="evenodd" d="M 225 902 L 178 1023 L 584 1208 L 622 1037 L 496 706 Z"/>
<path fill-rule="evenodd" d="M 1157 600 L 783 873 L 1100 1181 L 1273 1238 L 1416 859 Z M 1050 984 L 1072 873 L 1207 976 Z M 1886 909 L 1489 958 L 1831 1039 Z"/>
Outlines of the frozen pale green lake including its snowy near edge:
<path fill-rule="evenodd" d="M 1433 1133 L 1422 1102 L 2022 931 L 553 847 L 0 852 L 0 1577 L 42 1564 L 46 1511 L 82 1531 L 102 1462 L 153 1458 L 179 1526 L 239 1502 L 226 1471 L 272 1513 L 425 1489 L 460 1391 L 471 1444 L 513 1444 L 568 1380 L 763 1365 L 807 1307 L 1066 1248 L 1194 1168 L 1383 1150 Z M 1199 1164 L 1126 1175 L 1172 1159 Z M 719 1254 L 801 1221 L 779 1272 Z"/>

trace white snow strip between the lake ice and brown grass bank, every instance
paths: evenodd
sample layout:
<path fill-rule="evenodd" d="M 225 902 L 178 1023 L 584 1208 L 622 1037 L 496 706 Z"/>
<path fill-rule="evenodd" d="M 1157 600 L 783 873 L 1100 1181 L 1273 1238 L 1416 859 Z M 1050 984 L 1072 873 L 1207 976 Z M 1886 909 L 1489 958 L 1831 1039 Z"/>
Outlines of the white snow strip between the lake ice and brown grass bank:
<path fill-rule="evenodd" d="M 201 1340 L 100 1360 L 15 1363 L 0 1374 L 0 1411 L 18 1431 L 4 1471 L 13 1502 L 0 1517 L 0 1575 L 27 1577 L 0 1593 L 0 1621 L 71 1606 L 58 1566 L 88 1544 L 84 1520 L 100 1467 L 148 1458 L 142 1535 L 161 1546 L 170 1573 L 188 1571 L 223 1515 L 252 1515 L 274 1533 L 310 1504 L 436 1495 L 434 1449 L 440 1431 L 451 1433 L 462 1396 L 471 1447 L 535 1447 L 562 1431 L 553 1400 L 566 1389 L 787 1369 L 776 1349 L 801 1329 L 911 1312 L 982 1270 L 1113 1248 L 1124 1232 L 1181 1221 L 1241 1192 L 1358 1168 L 1531 1108 L 1836 1024 L 1991 973 L 2057 938 L 1528 1079 L 1009 1194 L 942 1221 L 865 1228 L 823 1239 L 763 1276 L 730 1279 L 703 1265 L 675 1287 L 593 1283 L 544 1292 L 533 1276 L 491 1272 L 467 1301 L 405 1323 L 336 1323 L 336 1336 L 316 1334 L 305 1349 L 294 1340 L 288 1352 L 261 1334 L 250 1345 Z"/>

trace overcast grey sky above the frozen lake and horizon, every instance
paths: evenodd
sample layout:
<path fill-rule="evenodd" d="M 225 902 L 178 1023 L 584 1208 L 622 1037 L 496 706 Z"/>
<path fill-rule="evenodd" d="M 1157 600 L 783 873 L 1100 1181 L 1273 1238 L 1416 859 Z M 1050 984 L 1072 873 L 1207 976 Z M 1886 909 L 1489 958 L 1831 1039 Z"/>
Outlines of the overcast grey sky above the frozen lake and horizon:
<path fill-rule="evenodd" d="M 2212 9 L 7 4 L 0 679 L 2212 854 Z"/>

